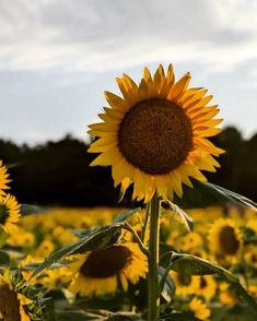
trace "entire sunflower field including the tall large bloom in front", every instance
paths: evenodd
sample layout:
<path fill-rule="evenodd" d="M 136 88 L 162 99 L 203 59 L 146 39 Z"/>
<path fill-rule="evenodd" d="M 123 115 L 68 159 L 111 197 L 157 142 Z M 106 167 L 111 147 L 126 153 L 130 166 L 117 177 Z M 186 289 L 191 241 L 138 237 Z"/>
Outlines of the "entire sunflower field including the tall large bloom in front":
<path fill-rule="evenodd" d="M 257 204 L 207 182 L 221 119 L 189 81 L 124 74 L 90 126 L 131 209 L 19 204 L 0 160 L 0 320 L 256 320 Z"/>

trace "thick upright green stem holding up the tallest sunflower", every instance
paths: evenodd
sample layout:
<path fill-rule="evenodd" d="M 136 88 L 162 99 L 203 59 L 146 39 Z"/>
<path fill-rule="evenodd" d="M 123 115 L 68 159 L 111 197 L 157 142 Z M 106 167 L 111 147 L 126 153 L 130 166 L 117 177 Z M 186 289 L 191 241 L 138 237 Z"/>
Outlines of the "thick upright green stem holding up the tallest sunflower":
<path fill-rule="evenodd" d="M 150 202 L 150 240 L 148 275 L 148 320 L 159 319 L 159 242 L 160 242 L 160 199 L 155 193 Z"/>

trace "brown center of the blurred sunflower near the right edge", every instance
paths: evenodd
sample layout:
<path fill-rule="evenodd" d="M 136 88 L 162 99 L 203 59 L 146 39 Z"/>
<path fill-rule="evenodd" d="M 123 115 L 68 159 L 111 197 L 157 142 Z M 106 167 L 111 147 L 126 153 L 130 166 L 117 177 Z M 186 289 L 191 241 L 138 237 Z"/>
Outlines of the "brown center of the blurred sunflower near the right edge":
<path fill-rule="evenodd" d="M 224 253 L 231 255 L 236 254 L 240 247 L 240 241 L 236 238 L 235 230 L 233 227 L 223 227 L 220 231 L 219 240 Z"/>

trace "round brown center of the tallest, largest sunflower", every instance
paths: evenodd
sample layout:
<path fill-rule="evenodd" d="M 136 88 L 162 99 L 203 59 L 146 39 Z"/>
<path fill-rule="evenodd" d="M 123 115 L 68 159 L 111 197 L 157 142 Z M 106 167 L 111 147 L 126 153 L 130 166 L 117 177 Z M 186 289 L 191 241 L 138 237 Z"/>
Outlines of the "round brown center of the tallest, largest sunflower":
<path fill-rule="evenodd" d="M 191 150 L 191 123 L 176 103 L 151 98 L 125 115 L 118 145 L 135 167 L 150 175 L 164 175 L 178 167 Z"/>

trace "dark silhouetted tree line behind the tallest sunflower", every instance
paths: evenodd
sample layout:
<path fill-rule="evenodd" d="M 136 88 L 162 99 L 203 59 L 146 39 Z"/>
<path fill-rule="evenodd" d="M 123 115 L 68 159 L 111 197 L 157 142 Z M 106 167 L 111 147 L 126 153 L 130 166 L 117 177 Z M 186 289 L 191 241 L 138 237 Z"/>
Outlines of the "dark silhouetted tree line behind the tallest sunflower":
<path fill-rule="evenodd" d="M 221 168 L 208 179 L 257 201 L 257 134 L 244 140 L 234 127 L 212 140 L 226 151 Z M 9 166 L 11 188 L 21 203 L 95 206 L 116 205 L 119 189 L 113 186 L 110 167 L 90 167 L 95 154 L 71 135 L 58 142 L 28 146 L 0 140 L 0 159 Z M 125 197 L 122 205 L 129 200 Z"/>

